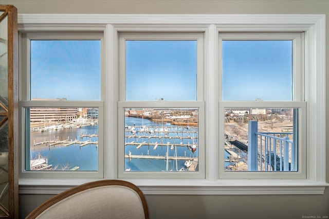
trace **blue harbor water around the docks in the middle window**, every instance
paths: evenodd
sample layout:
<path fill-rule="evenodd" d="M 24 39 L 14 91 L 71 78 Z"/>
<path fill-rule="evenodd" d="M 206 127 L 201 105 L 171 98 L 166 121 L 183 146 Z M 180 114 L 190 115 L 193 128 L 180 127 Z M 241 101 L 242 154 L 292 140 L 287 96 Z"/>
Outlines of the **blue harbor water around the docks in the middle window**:
<path fill-rule="evenodd" d="M 187 157 L 192 160 L 198 157 L 198 148 L 193 153 L 188 146 L 193 143 L 198 145 L 197 126 L 172 125 L 167 122 L 154 122 L 147 119 L 136 117 L 125 117 L 125 144 L 124 153 L 126 155 L 150 155 L 150 156 L 168 156 Z M 145 131 L 145 128 L 148 131 Z M 136 133 L 131 132 L 135 129 Z M 167 134 L 166 134 L 167 133 Z M 128 137 L 127 137 L 128 136 Z M 142 136 L 142 137 L 140 137 Z M 142 143 L 137 149 L 136 145 L 130 145 L 129 142 Z M 144 142 L 144 143 L 143 143 Z M 155 148 L 155 143 L 159 146 Z M 162 145 L 161 145 L 162 144 Z M 179 144 L 171 148 L 171 144 Z M 129 171 L 179 171 L 186 170 L 186 160 L 178 159 L 130 159 L 125 158 L 125 170 Z M 196 168 L 196 171 L 198 169 Z"/>

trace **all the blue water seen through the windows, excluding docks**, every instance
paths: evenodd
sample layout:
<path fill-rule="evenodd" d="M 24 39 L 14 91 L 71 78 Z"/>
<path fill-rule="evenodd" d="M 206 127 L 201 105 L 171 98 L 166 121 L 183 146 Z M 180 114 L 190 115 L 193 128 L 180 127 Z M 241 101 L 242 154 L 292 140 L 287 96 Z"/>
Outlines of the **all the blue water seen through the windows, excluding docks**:
<path fill-rule="evenodd" d="M 169 133 L 168 136 L 165 136 L 165 133 L 156 133 L 156 136 L 161 136 L 162 138 L 138 138 L 140 133 L 136 132 L 136 137 L 125 138 L 125 142 L 146 142 L 140 149 L 136 149 L 136 145 L 127 145 L 124 147 L 124 153 L 129 154 L 129 151 L 132 155 L 160 155 L 165 156 L 168 150 L 169 156 L 175 156 L 175 151 L 177 151 L 177 156 L 186 156 L 190 157 L 198 157 L 198 148 L 195 153 L 192 153 L 188 147 L 177 147 L 175 150 L 170 150 L 170 147 L 167 146 L 158 146 L 156 150 L 154 150 L 153 145 L 148 145 L 148 143 L 190 143 L 192 144 L 192 139 L 169 139 L 170 136 L 176 137 L 178 136 L 189 136 L 192 137 L 192 133 L 187 133 L 186 126 L 177 126 L 171 125 L 170 123 L 164 122 L 152 122 L 147 119 L 134 118 L 134 117 L 125 117 L 125 125 L 134 126 L 136 130 L 140 129 L 142 125 L 145 126 L 157 126 L 157 129 L 160 130 L 161 127 L 168 127 L 170 131 L 176 130 L 176 133 Z M 193 137 L 197 137 L 197 127 L 190 127 L 189 131 L 194 130 Z M 52 165 L 52 167 L 57 166 L 57 170 L 61 170 L 64 167 L 68 167 L 68 169 L 79 167 L 79 171 L 97 171 L 98 170 L 98 148 L 95 144 L 87 144 L 84 147 L 79 147 L 79 144 L 72 144 L 68 147 L 64 147 L 63 145 L 56 144 L 52 146 L 46 145 L 36 145 L 33 146 L 34 142 L 42 142 L 45 140 L 81 140 L 86 141 L 89 137 L 84 137 L 80 139 L 80 134 L 83 132 L 84 134 L 97 134 L 98 133 L 98 125 L 89 125 L 83 126 L 80 128 L 72 127 L 70 129 L 63 129 L 57 131 L 45 131 L 45 132 L 31 132 L 31 158 L 38 157 L 40 154 L 42 157 L 48 159 L 48 164 Z M 131 134 L 130 132 L 126 132 L 125 135 Z M 149 134 L 148 134 L 149 135 Z M 91 141 L 97 141 L 97 137 L 90 138 Z M 198 144 L 198 139 L 194 139 L 194 142 Z M 123 149 L 123 147 L 120 147 Z M 225 152 L 225 156 L 227 156 L 227 152 Z M 166 159 L 129 159 L 125 158 L 125 170 L 130 169 L 130 171 L 165 171 L 168 168 L 169 171 L 176 171 L 184 168 L 185 161 L 184 160 L 169 160 L 167 162 Z M 229 163 L 226 164 L 226 166 Z M 198 169 L 196 169 L 198 171 Z"/>

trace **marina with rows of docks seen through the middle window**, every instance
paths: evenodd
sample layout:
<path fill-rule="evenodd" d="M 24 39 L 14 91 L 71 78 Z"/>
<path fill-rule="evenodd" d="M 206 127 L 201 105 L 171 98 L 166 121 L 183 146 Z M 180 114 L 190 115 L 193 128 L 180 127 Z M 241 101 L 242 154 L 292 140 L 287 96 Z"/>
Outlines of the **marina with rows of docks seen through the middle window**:
<path fill-rule="evenodd" d="M 126 117 L 125 122 L 126 171 L 134 171 L 135 163 L 145 165 L 138 171 L 149 171 L 146 163 L 157 163 L 158 169 L 150 169 L 158 171 L 198 170 L 197 126 L 170 123 L 159 126 L 151 120 L 134 117 Z M 168 167 L 170 162 L 172 167 Z"/>

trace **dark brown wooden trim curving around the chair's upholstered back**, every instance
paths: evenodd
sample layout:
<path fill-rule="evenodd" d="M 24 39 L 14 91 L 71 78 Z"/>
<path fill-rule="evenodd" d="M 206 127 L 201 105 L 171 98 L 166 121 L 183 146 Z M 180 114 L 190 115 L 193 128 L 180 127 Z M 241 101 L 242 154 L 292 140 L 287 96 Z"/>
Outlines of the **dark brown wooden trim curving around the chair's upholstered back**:
<path fill-rule="evenodd" d="M 44 210 L 52 206 L 53 204 L 56 204 L 60 202 L 61 200 L 74 195 L 78 192 L 91 189 L 91 188 L 96 188 L 96 187 L 102 187 L 102 186 L 111 186 L 111 185 L 117 185 L 117 186 L 125 186 L 128 188 L 133 189 L 140 197 L 141 202 L 143 204 L 143 209 L 144 209 L 144 215 L 145 219 L 149 219 L 149 209 L 148 205 L 145 199 L 145 196 L 143 192 L 134 184 L 128 181 L 123 181 L 123 180 L 118 180 L 118 179 L 104 179 L 104 180 L 99 180 L 99 181 L 93 181 L 93 182 L 87 182 L 86 184 L 82 184 L 80 186 L 76 186 L 72 189 L 66 190 L 58 195 L 53 196 L 37 208 L 35 208 L 25 219 L 33 219 L 39 214 L 41 214 Z"/>

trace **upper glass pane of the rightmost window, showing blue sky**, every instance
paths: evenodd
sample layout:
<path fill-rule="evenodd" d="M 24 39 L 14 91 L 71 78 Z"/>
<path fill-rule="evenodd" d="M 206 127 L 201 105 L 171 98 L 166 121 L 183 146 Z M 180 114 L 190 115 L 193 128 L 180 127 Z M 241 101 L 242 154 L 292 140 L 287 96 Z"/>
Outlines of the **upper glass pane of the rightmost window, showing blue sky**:
<path fill-rule="evenodd" d="M 292 41 L 223 41 L 223 101 L 292 100 Z"/>

